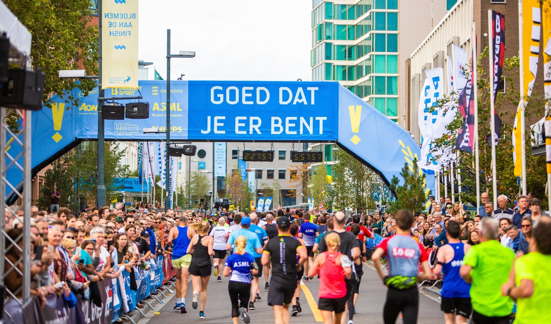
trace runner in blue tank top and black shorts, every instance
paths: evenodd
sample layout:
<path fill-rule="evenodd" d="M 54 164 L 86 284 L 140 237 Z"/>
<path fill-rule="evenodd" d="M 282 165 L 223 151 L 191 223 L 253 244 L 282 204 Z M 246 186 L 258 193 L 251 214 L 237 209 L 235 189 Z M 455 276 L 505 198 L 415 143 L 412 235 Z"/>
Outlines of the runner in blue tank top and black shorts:
<path fill-rule="evenodd" d="M 438 249 L 437 264 L 434 267 L 434 273 L 440 274 L 439 277 L 444 274 L 441 309 L 444 311 L 446 324 L 453 324 L 454 320 L 456 323 L 467 323 L 472 311 L 469 295 L 471 284 L 466 283 L 459 274 L 463 257 L 471 245 L 461 243 L 460 232 L 459 224 L 450 218 L 446 228 L 448 244 Z"/>

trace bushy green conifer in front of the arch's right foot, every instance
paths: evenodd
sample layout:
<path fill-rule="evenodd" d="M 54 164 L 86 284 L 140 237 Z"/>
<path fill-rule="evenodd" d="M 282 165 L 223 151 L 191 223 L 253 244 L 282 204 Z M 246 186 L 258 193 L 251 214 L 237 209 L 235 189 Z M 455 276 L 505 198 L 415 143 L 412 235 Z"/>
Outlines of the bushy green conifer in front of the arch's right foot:
<path fill-rule="evenodd" d="M 396 201 L 390 202 L 390 212 L 407 209 L 412 212 L 423 211 L 426 208 L 427 197 L 432 193 L 425 188 L 425 174 L 417 166 L 417 159 L 413 160 L 413 166 L 404 163 L 400 172 L 403 183 L 399 184 L 398 177 L 391 179 L 390 189 L 396 193 Z"/>

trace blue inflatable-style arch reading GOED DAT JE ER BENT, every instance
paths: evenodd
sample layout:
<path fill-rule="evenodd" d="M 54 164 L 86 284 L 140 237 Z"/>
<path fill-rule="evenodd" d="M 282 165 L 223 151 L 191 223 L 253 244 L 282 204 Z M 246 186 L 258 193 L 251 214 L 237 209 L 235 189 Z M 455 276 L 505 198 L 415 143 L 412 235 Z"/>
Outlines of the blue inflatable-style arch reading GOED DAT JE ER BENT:
<path fill-rule="evenodd" d="M 166 81 L 140 81 L 138 89 L 108 89 L 105 96 L 139 94 L 149 102 L 150 117 L 105 120 L 106 140 L 164 140 L 165 134 L 143 134 L 143 128 L 166 129 Z M 30 113 L 34 174 L 80 141 L 97 139 L 97 88 L 87 96 L 78 90 L 73 95 L 81 100 L 78 106 L 55 95 L 52 108 Z M 404 163 L 411 166 L 420 153 L 406 130 L 337 82 L 171 81 L 170 101 L 171 140 L 336 142 L 387 185 L 393 175 L 401 179 Z M 11 156 L 20 151 L 18 145 L 8 149 Z M 11 183 L 23 179 L 18 171 L 8 171 Z M 427 192 L 434 184 L 434 174 L 426 174 Z"/>

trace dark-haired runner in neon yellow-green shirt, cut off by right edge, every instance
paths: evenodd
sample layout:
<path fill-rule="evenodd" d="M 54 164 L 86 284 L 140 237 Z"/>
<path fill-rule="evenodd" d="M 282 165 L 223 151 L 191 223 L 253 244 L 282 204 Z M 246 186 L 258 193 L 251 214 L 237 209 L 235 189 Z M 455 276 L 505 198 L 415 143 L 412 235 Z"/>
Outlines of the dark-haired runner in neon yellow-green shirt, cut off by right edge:
<path fill-rule="evenodd" d="M 551 323 L 551 220 L 542 218 L 532 230 L 529 251 L 519 257 L 509 281 L 501 287 L 504 296 L 517 302 L 515 324 Z M 516 285 L 516 287 L 515 287 Z"/>

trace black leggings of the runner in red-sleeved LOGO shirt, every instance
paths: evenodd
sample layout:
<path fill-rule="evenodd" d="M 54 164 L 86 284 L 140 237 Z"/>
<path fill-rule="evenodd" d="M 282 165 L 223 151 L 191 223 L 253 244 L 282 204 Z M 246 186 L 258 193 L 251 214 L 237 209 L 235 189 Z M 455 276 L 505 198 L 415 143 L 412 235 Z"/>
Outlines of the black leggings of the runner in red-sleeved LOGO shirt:
<path fill-rule="evenodd" d="M 404 324 L 417 323 L 419 311 L 419 292 L 417 286 L 408 289 L 388 288 L 382 317 L 385 324 L 396 323 L 398 314 L 402 312 Z"/>

